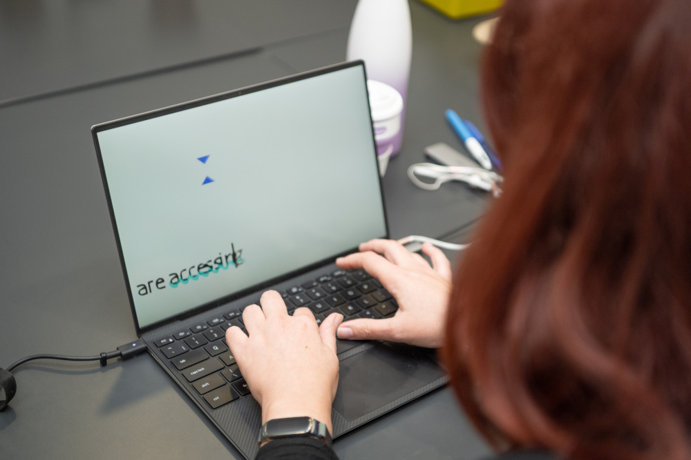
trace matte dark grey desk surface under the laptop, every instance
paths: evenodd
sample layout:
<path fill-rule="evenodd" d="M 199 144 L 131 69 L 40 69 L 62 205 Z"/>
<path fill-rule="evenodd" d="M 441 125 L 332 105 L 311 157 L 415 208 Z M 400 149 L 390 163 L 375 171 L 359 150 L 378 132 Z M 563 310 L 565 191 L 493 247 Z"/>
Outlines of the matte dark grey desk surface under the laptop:
<path fill-rule="evenodd" d="M 91 125 L 345 59 L 354 1 L 240 3 L 1 3 L 0 100 L 12 102 L 0 104 L 0 365 L 46 352 L 98 354 L 135 338 Z M 461 148 L 444 109 L 482 127 L 480 46 L 471 39 L 482 18 L 450 21 L 417 1 L 410 9 L 404 149 L 389 166 L 384 192 L 392 237 L 438 236 L 480 217 L 486 197 L 458 183 L 419 190 L 406 169 L 424 159 L 430 143 Z M 135 49 L 124 29 L 96 22 L 133 17 L 127 31 L 138 38 L 138 55 L 125 59 L 118 50 Z M 220 27 L 223 17 L 240 26 Z M 236 44 L 219 47 L 224 40 Z M 17 43 L 12 53 L 8 43 Z M 98 53 L 89 56 L 91 46 Z M 73 67 L 61 67 L 57 54 Z M 92 68 L 89 59 L 102 56 L 114 58 Z M 146 355 L 107 368 L 36 361 L 15 374 L 19 392 L 0 412 L 0 458 L 240 458 Z M 448 388 L 334 447 L 343 459 L 488 452 Z"/>

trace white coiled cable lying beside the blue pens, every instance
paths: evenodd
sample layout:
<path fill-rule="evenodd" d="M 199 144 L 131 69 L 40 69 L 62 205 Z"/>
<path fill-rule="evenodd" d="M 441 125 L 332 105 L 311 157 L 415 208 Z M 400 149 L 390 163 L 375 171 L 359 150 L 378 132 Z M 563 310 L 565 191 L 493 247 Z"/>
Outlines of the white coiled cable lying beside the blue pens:
<path fill-rule="evenodd" d="M 441 166 L 434 163 L 415 163 L 408 168 L 408 177 L 419 188 L 424 190 L 437 190 L 442 183 L 448 181 L 462 181 L 469 186 L 492 192 L 498 197 L 501 192 L 502 177 L 496 172 L 483 168 L 470 168 L 467 166 Z M 419 177 L 434 179 L 433 182 L 424 182 Z"/>

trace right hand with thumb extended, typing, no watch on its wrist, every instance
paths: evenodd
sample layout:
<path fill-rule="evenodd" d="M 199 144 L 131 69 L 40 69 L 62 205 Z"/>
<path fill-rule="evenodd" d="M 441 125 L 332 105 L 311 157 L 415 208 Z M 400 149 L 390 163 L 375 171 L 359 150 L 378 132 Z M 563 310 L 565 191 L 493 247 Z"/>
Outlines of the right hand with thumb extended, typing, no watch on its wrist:
<path fill-rule="evenodd" d="M 337 259 L 343 270 L 364 269 L 381 281 L 399 304 L 391 318 L 353 319 L 338 329 L 339 339 L 375 339 L 409 343 L 426 348 L 442 346 L 444 321 L 451 296 L 451 263 L 430 243 L 420 254 L 397 241 L 373 239 L 360 252 Z"/>

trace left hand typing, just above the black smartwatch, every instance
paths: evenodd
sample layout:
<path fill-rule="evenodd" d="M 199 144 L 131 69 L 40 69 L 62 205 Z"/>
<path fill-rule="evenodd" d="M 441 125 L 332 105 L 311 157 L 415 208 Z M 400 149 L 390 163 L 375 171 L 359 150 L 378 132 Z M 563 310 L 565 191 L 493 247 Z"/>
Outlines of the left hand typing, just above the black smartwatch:
<path fill-rule="evenodd" d="M 336 330 L 343 315 L 332 313 L 321 327 L 308 308 L 288 315 L 281 295 L 262 294 L 261 308 L 243 311 L 247 334 L 233 326 L 226 341 L 252 396 L 261 405 L 262 423 L 285 417 L 312 417 L 331 426 L 331 404 L 339 381 Z"/>

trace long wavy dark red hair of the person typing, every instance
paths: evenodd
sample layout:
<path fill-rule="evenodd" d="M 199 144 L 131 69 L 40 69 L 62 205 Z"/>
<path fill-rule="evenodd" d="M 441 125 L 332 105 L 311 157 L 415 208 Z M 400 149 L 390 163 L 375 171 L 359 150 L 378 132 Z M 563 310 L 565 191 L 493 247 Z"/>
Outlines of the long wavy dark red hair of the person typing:
<path fill-rule="evenodd" d="M 498 447 L 691 458 L 691 2 L 507 0 L 442 354 Z"/>

